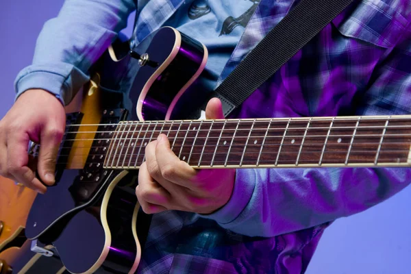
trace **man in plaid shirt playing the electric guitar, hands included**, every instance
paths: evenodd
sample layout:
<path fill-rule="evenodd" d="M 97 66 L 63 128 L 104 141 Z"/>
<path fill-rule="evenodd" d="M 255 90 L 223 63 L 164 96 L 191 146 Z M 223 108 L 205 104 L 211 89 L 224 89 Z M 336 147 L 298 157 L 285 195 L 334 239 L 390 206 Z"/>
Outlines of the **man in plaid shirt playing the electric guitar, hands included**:
<path fill-rule="evenodd" d="M 71 0 L 45 24 L 33 64 L 0 123 L 0 168 L 39 192 L 27 142 L 40 142 L 38 172 L 54 182 L 63 105 L 88 80 L 136 9 L 132 45 L 162 25 L 200 40 L 219 84 L 299 3 L 292 0 Z M 411 113 L 411 3 L 355 1 L 245 101 L 238 117 Z M 208 119 L 221 118 L 218 100 Z M 154 214 L 139 273 L 303 273 L 329 222 L 388 199 L 410 169 L 194 171 L 162 135 L 151 142 L 136 195 Z M 161 155 L 162 157 L 159 157 Z"/>

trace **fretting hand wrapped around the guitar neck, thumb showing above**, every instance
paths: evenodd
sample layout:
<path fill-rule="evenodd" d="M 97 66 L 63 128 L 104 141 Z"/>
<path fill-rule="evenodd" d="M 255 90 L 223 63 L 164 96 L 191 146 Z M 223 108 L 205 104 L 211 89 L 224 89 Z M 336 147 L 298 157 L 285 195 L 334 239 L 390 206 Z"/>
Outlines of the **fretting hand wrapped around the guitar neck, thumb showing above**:
<path fill-rule="evenodd" d="M 219 99 L 208 102 L 206 118 L 224 118 Z M 210 214 L 224 206 L 232 195 L 235 169 L 196 171 L 177 158 L 164 134 L 147 145 L 145 156 L 136 195 L 147 214 L 164 210 Z"/>

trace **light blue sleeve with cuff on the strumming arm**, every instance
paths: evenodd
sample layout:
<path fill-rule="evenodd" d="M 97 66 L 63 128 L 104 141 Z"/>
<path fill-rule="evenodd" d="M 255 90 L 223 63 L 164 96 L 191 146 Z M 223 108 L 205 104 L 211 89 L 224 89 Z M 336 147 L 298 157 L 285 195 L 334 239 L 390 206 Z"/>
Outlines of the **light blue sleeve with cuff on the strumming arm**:
<path fill-rule="evenodd" d="M 42 88 L 68 104 L 135 9 L 133 0 L 66 0 L 58 16 L 43 26 L 32 64 L 18 73 L 16 98 Z"/>

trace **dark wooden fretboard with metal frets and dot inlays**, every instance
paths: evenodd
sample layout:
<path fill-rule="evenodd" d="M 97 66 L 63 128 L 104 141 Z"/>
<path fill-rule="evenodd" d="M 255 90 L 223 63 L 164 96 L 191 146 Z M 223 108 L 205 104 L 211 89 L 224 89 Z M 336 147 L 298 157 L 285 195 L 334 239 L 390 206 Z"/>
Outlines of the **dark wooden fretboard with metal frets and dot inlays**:
<path fill-rule="evenodd" d="M 349 116 L 124 122 L 104 167 L 138 169 L 159 134 L 197 169 L 411 164 L 411 116 Z"/>

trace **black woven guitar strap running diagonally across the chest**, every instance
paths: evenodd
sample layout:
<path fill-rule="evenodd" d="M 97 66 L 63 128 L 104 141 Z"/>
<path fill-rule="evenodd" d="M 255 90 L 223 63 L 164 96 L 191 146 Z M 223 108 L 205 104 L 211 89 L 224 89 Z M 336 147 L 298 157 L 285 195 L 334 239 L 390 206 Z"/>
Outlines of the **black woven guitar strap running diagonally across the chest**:
<path fill-rule="evenodd" d="M 225 116 L 238 108 L 351 2 L 353 0 L 301 0 L 214 90 L 212 97 L 221 99 Z"/>

